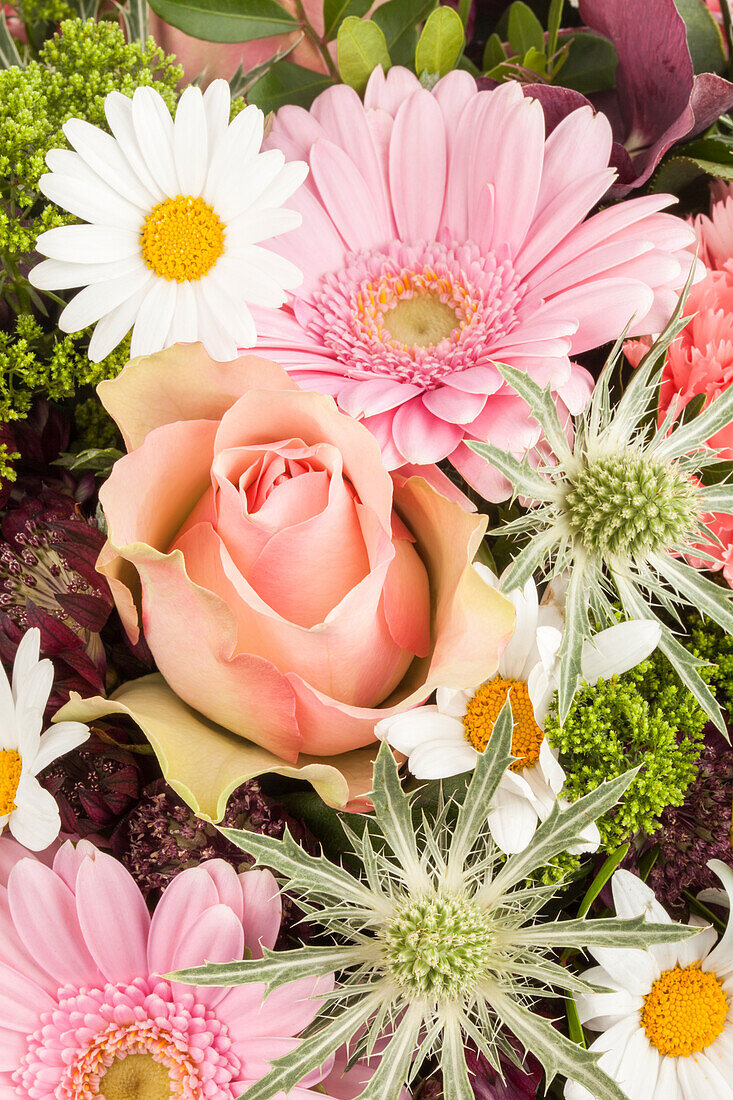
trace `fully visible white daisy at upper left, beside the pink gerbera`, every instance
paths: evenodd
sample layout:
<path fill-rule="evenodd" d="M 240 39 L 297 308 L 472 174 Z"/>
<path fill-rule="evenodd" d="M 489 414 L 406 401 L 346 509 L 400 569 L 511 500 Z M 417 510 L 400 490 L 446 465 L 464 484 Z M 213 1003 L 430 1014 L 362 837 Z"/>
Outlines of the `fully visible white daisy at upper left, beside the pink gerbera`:
<path fill-rule="evenodd" d="M 296 229 L 282 204 L 308 167 L 260 152 L 264 116 L 247 107 L 230 123 L 226 80 L 186 88 L 175 114 L 152 88 L 105 100 L 111 134 L 81 119 L 64 124 L 76 150 L 51 150 L 46 198 L 87 224 L 42 233 L 48 258 L 29 278 L 42 290 L 84 287 L 59 327 L 97 322 L 89 359 L 108 355 L 132 328 L 132 355 L 200 340 L 221 361 L 251 348 L 249 306 L 278 308 L 302 282 L 295 264 L 262 246 Z M 113 136 L 112 136 L 113 135 Z"/>

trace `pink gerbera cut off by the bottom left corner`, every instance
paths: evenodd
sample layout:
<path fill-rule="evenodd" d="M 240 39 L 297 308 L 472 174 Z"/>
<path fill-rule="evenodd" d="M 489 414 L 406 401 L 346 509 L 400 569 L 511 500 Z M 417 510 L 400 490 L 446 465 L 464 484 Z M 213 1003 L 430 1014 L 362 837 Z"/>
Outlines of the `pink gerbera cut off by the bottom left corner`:
<path fill-rule="evenodd" d="M 0 1097 L 233 1100 L 292 1049 L 330 979 L 265 998 L 161 975 L 261 955 L 277 937 L 269 871 L 183 871 L 152 919 L 128 871 L 83 840 L 53 861 L 0 843 Z M 289 1093 L 309 1100 L 330 1066 Z M 328 1094 L 328 1093 L 326 1093 Z"/>

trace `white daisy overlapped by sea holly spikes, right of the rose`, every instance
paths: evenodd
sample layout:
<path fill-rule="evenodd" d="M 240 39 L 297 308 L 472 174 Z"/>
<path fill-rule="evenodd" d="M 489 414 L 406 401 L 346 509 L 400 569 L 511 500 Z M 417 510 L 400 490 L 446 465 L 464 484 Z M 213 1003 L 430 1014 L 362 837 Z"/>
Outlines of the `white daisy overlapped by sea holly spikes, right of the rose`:
<path fill-rule="evenodd" d="M 500 586 L 485 565 L 474 568 L 492 587 Z M 540 604 L 530 578 L 524 590 L 504 594 L 514 604 L 516 625 L 496 675 L 469 691 L 439 688 L 436 705 L 383 718 L 375 733 L 407 757 L 407 767 L 417 779 L 458 776 L 475 767 L 511 691 L 516 762 L 504 773 L 488 814 L 495 843 L 508 855 L 526 848 L 565 783 L 565 771 L 544 730 L 557 690 L 565 588 L 558 582 L 550 585 Z M 583 679 L 595 683 L 627 672 L 654 651 L 659 634 L 657 623 L 632 620 L 594 635 L 583 649 Z M 587 843 L 576 853 L 598 847 L 595 825 L 583 839 Z"/>

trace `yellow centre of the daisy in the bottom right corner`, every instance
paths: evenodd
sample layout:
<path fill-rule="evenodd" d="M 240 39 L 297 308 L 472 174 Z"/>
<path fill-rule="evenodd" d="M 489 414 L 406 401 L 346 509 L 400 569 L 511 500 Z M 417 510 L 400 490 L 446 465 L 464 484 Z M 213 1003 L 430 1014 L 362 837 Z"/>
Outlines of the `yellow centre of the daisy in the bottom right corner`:
<path fill-rule="evenodd" d="M 704 1050 L 721 1034 L 726 1018 L 723 987 L 699 963 L 665 970 L 642 1010 L 646 1037 L 669 1058 L 689 1058 Z"/>

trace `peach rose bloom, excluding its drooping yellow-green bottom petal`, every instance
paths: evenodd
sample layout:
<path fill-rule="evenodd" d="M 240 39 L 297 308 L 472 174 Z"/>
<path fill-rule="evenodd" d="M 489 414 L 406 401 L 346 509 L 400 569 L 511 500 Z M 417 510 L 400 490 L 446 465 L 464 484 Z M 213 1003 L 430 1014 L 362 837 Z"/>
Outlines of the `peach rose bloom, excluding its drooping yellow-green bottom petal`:
<path fill-rule="evenodd" d="M 129 451 L 100 494 L 99 569 L 189 706 L 296 761 L 493 674 L 513 612 L 470 568 L 485 517 L 393 481 L 330 397 L 200 344 L 133 360 L 99 395 Z"/>

